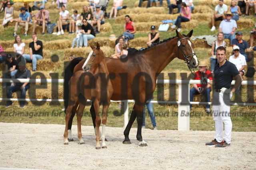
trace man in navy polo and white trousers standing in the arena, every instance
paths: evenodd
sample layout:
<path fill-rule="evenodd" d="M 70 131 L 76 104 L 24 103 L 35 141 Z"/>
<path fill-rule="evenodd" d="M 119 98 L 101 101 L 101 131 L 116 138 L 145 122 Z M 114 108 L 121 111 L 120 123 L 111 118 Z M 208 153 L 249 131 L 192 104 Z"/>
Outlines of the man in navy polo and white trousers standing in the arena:
<path fill-rule="evenodd" d="M 243 81 L 241 74 L 235 64 L 226 60 L 226 49 L 222 46 L 216 49 L 218 64 L 214 68 L 214 81 L 204 78 L 203 84 L 214 85 L 212 98 L 212 116 L 215 121 L 215 137 L 206 146 L 216 148 L 231 147 L 232 121 L 230 119 L 230 99 L 232 93 Z M 231 88 L 231 82 L 235 78 L 236 82 Z M 207 83 L 206 83 L 207 82 Z M 225 135 L 222 139 L 223 123 L 225 124 Z"/>

